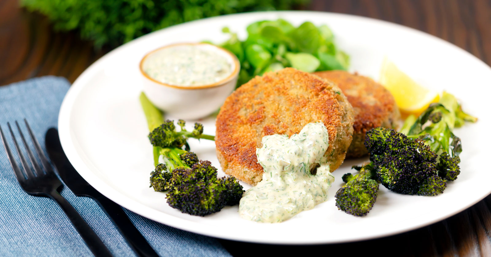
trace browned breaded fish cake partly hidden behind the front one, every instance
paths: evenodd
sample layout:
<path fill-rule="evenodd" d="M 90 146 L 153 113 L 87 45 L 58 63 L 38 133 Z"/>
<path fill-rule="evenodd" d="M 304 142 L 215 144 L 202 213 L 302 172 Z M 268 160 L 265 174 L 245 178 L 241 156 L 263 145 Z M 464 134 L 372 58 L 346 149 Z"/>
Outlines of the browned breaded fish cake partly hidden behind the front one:
<path fill-rule="evenodd" d="M 347 157 L 368 154 L 363 142 L 370 129 L 380 126 L 393 129 L 397 127 L 401 114 L 394 97 L 373 79 L 343 70 L 318 71 L 314 74 L 336 83 L 355 111 L 355 130 Z"/>

